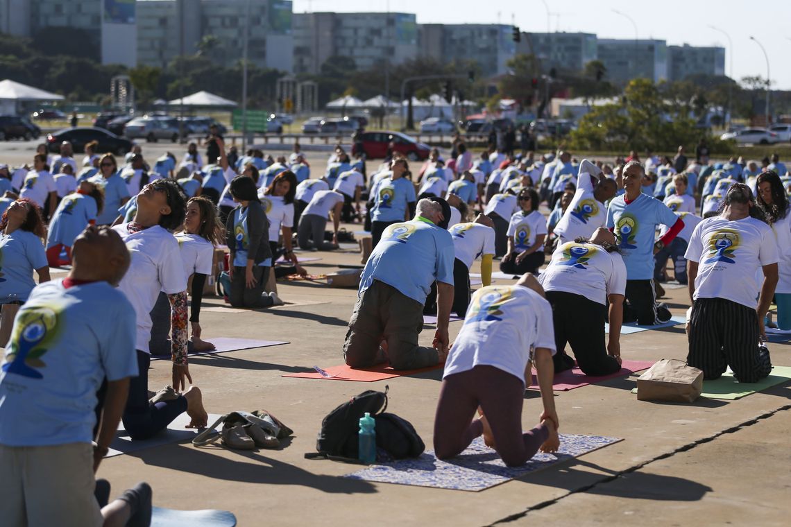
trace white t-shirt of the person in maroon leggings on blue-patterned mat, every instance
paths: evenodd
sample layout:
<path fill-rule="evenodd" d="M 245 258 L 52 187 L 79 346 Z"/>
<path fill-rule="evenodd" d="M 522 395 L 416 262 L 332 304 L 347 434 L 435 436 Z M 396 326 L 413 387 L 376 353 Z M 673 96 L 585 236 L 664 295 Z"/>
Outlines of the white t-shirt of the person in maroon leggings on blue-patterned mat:
<path fill-rule="evenodd" d="M 490 285 L 472 295 L 442 377 L 493 366 L 520 379 L 531 348 L 555 353 L 552 308 L 541 295 L 521 285 Z"/>

